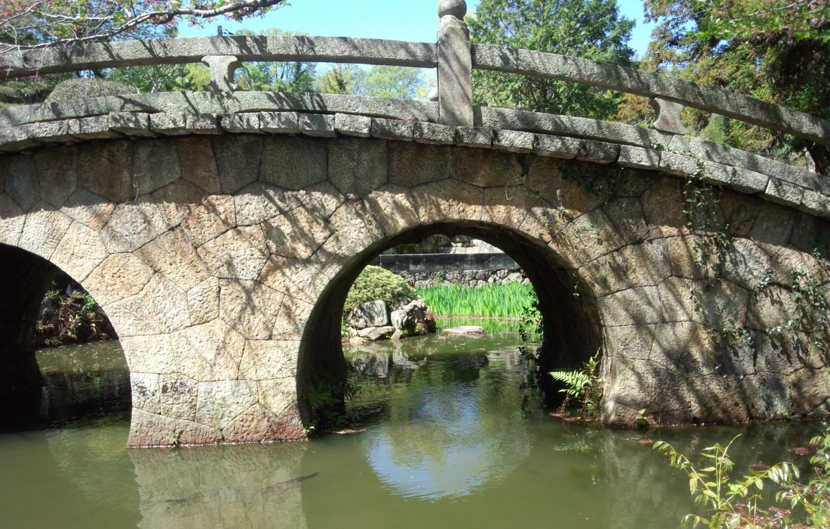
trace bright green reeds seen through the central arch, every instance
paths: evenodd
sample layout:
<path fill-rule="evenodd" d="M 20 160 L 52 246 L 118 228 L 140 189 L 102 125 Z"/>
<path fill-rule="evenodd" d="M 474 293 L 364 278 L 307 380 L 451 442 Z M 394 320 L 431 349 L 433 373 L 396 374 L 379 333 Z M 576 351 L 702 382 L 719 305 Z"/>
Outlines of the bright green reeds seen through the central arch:
<path fill-rule="evenodd" d="M 481 288 L 439 284 L 417 289 L 432 312 L 440 316 L 522 318 L 536 297 L 533 285 L 518 282 Z"/>

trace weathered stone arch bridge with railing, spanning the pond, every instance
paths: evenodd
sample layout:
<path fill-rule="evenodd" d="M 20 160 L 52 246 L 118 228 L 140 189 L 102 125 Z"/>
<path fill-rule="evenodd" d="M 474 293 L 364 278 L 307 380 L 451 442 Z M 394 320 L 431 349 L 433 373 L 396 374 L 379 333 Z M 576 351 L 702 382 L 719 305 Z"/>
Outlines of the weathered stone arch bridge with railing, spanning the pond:
<path fill-rule="evenodd" d="M 603 421 L 830 412 L 830 180 L 683 135 L 692 106 L 830 144 L 830 124 L 591 61 L 471 45 L 216 37 L 0 58 L 8 77 L 204 61 L 213 90 L 0 110 L 0 396 L 38 387 L 57 269 L 118 332 L 132 446 L 304 439 L 303 387 L 342 368 L 339 317 L 390 245 L 465 233 L 540 294 L 561 365 L 602 350 Z M 239 61 L 433 67 L 437 101 L 233 91 Z M 650 128 L 471 104 L 471 69 L 647 95 Z"/>

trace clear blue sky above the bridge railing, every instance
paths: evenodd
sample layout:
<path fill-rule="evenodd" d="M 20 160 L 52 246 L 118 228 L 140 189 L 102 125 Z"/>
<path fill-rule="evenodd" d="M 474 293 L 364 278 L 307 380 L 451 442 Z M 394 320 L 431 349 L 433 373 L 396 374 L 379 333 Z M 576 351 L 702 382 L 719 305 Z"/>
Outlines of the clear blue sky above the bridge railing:
<path fill-rule="evenodd" d="M 467 0 L 472 11 L 479 0 Z M 637 22 L 630 46 L 644 55 L 653 25 L 642 22 L 642 0 L 618 0 L 624 17 Z M 279 27 L 313 36 L 352 36 L 398 41 L 435 41 L 438 28 L 437 0 L 290 0 L 263 18 L 242 23 L 221 19 L 204 27 L 181 27 L 181 36 L 216 35 L 216 27 L 236 32 L 243 27 L 258 32 Z"/>

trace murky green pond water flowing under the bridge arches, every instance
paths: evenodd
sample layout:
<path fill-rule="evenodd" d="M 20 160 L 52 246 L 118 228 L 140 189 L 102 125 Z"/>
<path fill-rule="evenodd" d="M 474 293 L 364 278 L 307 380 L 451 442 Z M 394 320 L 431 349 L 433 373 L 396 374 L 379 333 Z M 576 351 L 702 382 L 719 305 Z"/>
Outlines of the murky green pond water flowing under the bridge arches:
<path fill-rule="evenodd" d="M 457 322 L 453 322 L 457 323 Z M 741 433 L 737 468 L 818 424 L 608 430 L 548 415 L 512 332 L 346 351 L 366 430 L 309 443 L 125 449 L 117 342 L 39 353 L 39 412 L 0 432 L 0 527 L 679 527 L 691 452 Z M 37 411 L 37 410 L 36 410 Z"/>

